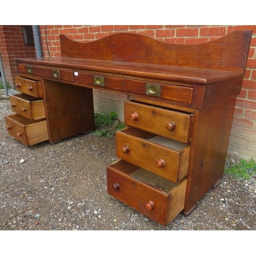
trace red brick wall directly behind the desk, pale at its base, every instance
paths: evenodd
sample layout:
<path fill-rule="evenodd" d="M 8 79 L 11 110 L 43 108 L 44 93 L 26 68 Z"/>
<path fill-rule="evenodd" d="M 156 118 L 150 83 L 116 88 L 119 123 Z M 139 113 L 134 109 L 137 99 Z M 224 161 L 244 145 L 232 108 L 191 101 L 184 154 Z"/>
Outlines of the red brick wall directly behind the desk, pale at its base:
<path fill-rule="evenodd" d="M 243 88 L 237 100 L 228 154 L 238 159 L 256 159 L 256 26 L 177 26 L 177 25 L 47 25 L 40 26 L 42 51 L 49 56 L 60 56 L 59 34 L 67 34 L 78 41 L 92 41 L 117 32 L 134 32 L 157 39 L 178 43 L 198 44 L 214 40 L 234 30 L 252 30 L 252 40 Z M 123 118 L 126 96 L 95 91 L 95 110 L 118 112 Z"/>

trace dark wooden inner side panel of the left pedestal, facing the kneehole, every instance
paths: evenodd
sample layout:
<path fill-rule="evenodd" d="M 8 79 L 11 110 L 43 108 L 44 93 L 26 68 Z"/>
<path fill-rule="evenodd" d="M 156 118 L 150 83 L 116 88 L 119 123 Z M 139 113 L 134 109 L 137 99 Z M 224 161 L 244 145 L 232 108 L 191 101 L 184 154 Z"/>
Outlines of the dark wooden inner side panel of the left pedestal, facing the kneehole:
<path fill-rule="evenodd" d="M 50 142 L 95 129 L 92 89 L 43 80 L 43 92 Z"/>

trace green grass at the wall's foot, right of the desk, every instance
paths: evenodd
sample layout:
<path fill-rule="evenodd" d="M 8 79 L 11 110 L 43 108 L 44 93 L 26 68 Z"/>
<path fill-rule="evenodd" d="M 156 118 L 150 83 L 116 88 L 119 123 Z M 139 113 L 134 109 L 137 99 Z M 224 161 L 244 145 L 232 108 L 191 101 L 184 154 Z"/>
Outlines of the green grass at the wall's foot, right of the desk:
<path fill-rule="evenodd" d="M 256 173 L 256 163 L 252 158 L 249 161 L 241 159 L 239 163 L 227 167 L 224 173 L 234 178 L 247 180 Z"/>

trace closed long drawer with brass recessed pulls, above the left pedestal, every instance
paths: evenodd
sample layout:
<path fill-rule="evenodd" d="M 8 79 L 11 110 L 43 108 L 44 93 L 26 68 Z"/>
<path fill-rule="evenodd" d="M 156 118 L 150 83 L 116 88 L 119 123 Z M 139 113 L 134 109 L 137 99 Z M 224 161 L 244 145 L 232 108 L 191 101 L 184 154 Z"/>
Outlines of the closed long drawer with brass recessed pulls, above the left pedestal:
<path fill-rule="evenodd" d="M 46 68 L 41 66 L 30 66 L 30 65 L 24 65 L 24 64 L 18 64 L 18 70 L 19 72 L 26 73 L 26 74 L 54 78 L 56 80 L 74 82 L 74 72 L 71 70 Z"/>

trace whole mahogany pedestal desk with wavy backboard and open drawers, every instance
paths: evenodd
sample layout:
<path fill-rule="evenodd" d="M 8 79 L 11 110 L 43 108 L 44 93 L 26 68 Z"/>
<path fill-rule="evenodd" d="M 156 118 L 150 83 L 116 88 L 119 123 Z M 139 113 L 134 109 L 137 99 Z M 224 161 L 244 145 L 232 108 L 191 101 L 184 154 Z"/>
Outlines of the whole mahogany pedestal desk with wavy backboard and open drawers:
<path fill-rule="evenodd" d="M 250 39 L 251 31 L 197 45 L 60 35 L 61 57 L 16 59 L 22 94 L 11 99 L 7 129 L 27 145 L 59 141 L 94 130 L 93 89 L 129 95 L 108 193 L 165 226 L 223 176 Z"/>

